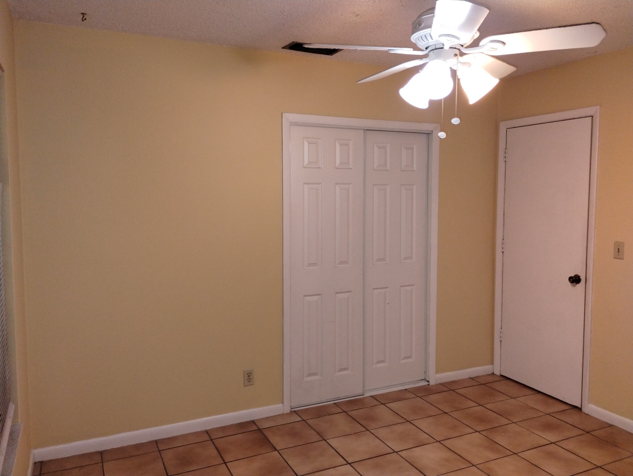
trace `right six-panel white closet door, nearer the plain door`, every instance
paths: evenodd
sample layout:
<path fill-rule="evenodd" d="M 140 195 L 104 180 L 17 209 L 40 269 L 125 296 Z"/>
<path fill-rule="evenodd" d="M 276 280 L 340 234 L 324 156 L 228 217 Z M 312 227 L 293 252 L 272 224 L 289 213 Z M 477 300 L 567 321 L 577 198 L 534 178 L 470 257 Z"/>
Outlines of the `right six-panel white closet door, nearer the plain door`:
<path fill-rule="evenodd" d="M 425 374 L 426 134 L 365 135 L 365 389 Z"/>

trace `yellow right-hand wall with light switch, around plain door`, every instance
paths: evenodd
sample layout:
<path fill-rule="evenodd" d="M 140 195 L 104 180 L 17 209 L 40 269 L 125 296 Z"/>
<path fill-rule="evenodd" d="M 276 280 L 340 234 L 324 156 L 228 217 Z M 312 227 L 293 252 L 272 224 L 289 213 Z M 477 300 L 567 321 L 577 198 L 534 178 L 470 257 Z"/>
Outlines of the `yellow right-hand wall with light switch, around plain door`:
<path fill-rule="evenodd" d="M 589 106 L 600 106 L 589 401 L 633 419 L 633 48 L 502 82 L 499 119 Z"/>

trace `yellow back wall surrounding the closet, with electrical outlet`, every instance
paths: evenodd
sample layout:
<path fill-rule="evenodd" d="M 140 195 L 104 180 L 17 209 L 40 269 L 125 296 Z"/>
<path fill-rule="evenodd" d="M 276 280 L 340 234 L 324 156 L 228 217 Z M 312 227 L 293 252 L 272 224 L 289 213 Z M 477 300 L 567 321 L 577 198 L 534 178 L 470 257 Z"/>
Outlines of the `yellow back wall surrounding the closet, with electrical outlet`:
<path fill-rule="evenodd" d="M 405 104 L 406 73 L 356 85 L 367 64 L 26 21 L 16 64 L 34 446 L 280 403 L 281 114 L 437 103 Z M 496 92 L 462 110 L 437 372 L 492 363 Z"/>

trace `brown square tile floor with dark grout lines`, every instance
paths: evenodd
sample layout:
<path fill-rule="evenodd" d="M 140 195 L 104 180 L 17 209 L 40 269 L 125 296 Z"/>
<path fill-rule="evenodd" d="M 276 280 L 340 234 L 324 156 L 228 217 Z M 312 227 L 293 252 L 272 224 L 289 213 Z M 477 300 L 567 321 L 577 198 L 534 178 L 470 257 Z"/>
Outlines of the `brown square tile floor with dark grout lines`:
<path fill-rule="evenodd" d="M 496 375 L 36 463 L 46 476 L 633 476 L 633 434 Z"/>

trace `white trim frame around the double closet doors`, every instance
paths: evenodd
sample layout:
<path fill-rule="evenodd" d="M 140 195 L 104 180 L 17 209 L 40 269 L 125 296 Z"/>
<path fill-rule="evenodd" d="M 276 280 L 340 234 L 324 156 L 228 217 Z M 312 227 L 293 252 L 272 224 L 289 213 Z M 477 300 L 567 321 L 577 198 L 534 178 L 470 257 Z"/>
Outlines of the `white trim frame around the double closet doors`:
<path fill-rule="evenodd" d="M 284 223 L 284 413 L 290 412 L 291 386 L 291 315 L 290 315 L 290 126 L 335 127 L 362 130 L 417 132 L 429 134 L 427 173 L 427 289 L 426 338 L 427 358 L 425 378 L 429 384 L 436 377 L 436 317 L 437 317 L 437 205 L 439 190 L 439 124 L 377 119 L 312 116 L 282 113 L 282 172 Z M 364 358 L 363 358 L 364 361 Z M 363 388 L 363 392 L 365 389 Z M 375 393 L 375 392 L 368 392 Z"/>

